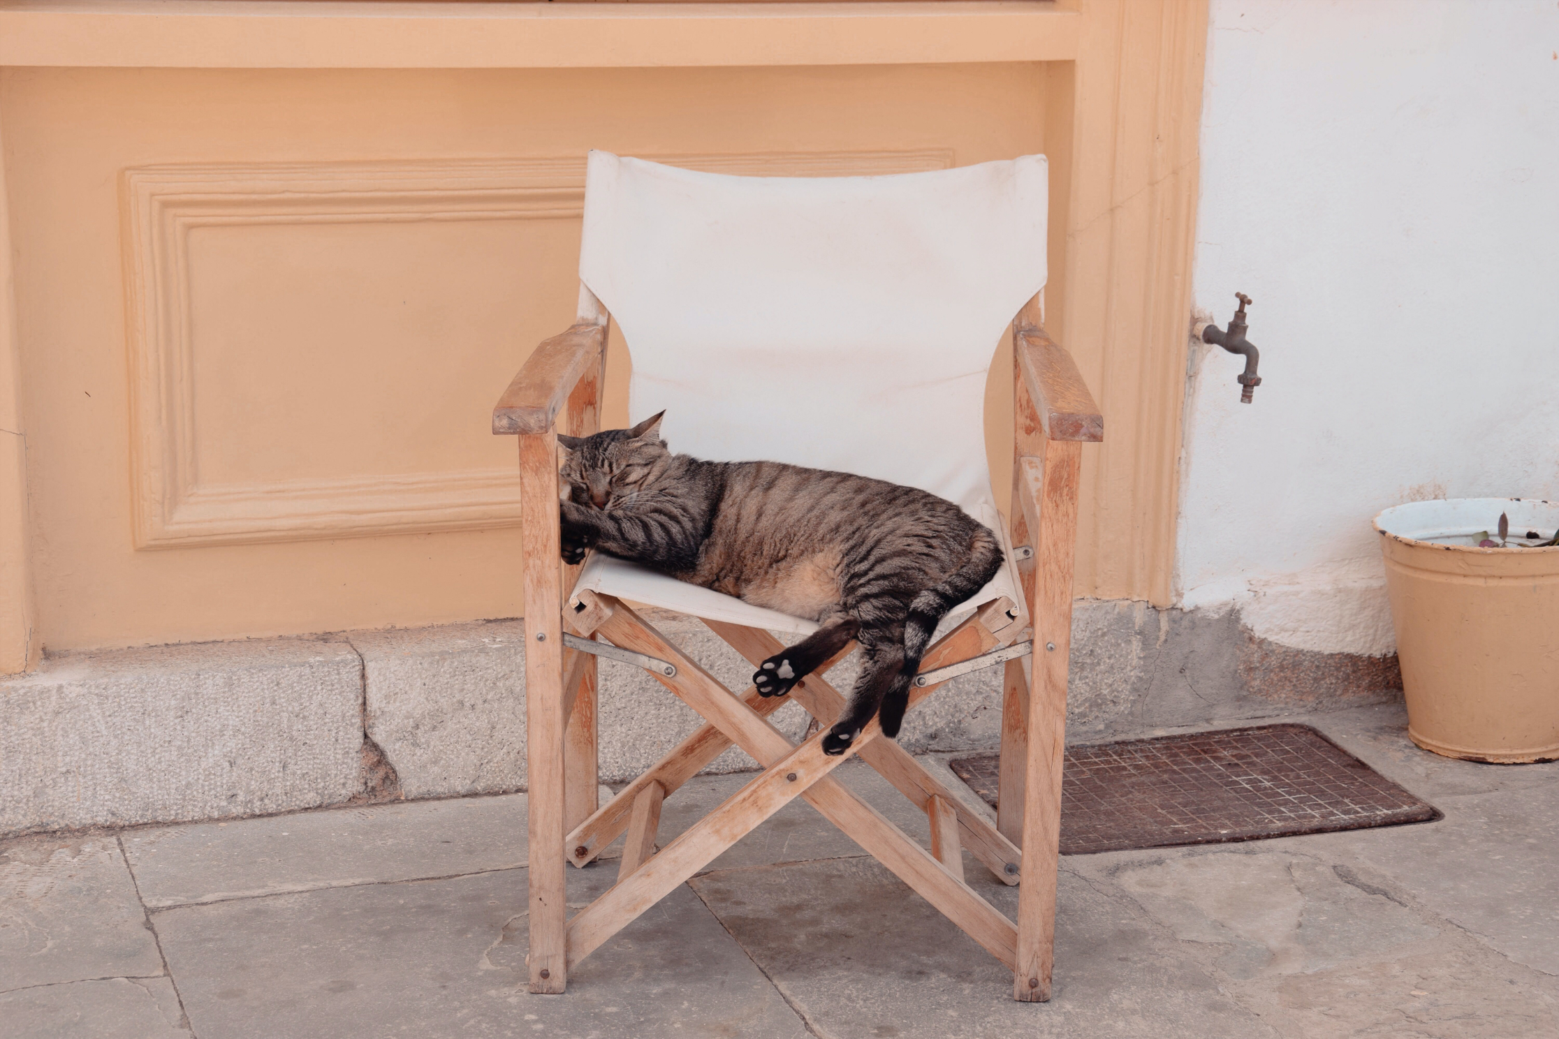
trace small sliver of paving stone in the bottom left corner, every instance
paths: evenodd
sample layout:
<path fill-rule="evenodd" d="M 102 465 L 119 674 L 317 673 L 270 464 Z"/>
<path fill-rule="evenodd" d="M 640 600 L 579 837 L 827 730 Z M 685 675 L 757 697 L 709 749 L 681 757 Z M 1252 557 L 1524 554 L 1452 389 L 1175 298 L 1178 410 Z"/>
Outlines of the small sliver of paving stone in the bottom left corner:
<path fill-rule="evenodd" d="M 167 978 L 72 981 L 0 994 L 0 1039 L 189 1039 L 181 1019 Z"/>

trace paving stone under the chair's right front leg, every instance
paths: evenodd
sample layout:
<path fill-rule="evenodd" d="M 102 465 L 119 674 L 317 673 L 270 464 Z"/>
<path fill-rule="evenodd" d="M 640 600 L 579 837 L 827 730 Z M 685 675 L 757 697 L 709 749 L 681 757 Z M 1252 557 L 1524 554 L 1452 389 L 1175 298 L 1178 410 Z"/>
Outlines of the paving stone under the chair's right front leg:
<path fill-rule="evenodd" d="M 1016 888 L 970 875 L 1016 913 Z M 717 871 L 692 886 L 822 1036 L 1275 1034 L 1157 936 L 1129 899 L 1066 871 L 1049 1003 L 1013 1002 L 1001 961 L 868 858 Z"/>

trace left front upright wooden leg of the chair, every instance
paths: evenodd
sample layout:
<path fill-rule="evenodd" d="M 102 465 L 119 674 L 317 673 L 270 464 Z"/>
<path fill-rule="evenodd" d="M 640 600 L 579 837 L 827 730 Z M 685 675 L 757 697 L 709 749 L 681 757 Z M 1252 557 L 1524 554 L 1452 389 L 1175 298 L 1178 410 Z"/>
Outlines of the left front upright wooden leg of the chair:
<path fill-rule="evenodd" d="M 530 991 L 567 984 L 564 897 L 563 587 L 558 530 L 558 438 L 519 438 L 521 522 L 525 528 L 525 787 L 530 840 Z"/>

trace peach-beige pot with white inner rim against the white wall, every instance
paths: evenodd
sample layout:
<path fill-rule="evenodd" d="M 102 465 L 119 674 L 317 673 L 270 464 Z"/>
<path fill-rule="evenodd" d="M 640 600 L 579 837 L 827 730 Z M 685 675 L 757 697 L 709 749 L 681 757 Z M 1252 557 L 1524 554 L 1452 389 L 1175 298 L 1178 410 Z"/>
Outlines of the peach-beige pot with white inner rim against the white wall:
<path fill-rule="evenodd" d="M 1498 541 L 1509 517 L 1508 545 Z M 1476 762 L 1559 759 L 1559 503 L 1412 502 L 1375 517 L 1408 699 L 1408 735 Z"/>

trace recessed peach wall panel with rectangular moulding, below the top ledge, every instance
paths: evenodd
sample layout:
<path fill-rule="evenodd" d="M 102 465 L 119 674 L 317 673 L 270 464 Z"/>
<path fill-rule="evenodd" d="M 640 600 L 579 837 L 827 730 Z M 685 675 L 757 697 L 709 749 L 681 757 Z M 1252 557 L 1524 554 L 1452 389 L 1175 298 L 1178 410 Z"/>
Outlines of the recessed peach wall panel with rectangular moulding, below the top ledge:
<path fill-rule="evenodd" d="M 981 162 L 1043 150 L 1041 89 L 1037 65 L 6 72 L 44 643 L 519 614 L 488 413 L 572 319 L 585 151 Z"/>

